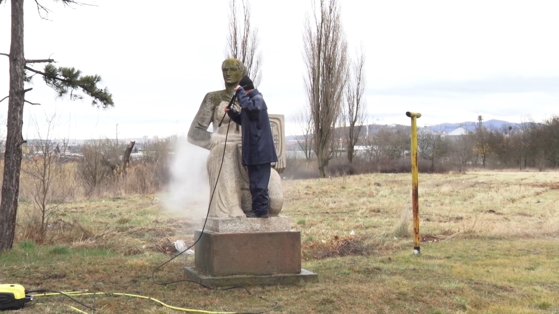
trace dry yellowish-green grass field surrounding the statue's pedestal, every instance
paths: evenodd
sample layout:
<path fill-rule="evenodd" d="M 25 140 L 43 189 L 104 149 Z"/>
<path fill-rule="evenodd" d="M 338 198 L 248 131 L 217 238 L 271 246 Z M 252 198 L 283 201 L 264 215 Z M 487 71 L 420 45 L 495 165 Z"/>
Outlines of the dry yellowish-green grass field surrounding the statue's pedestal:
<path fill-rule="evenodd" d="M 64 203 L 45 245 L 20 213 L 0 282 L 28 289 L 140 294 L 177 307 L 272 313 L 559 313 L 559 173 L 420 174 L 421 254 L 413 254 L 409 174 L 285 180 L 283 215 L 302 233 L 303 267 L 319 283 L 211 291 L 159 286 L 151 272 L 193 241 L 192 221 L 154 195 Z M 160 197 L 159 197 L 160 198 Z M 23 206 L 22 206 L 23 208 Z M 193 255 L 155 273 L 183 279 Z M 146 299 L 82 296 L 94 313 L 178 312 Z M 77 313 L 60 296 L 20 311 Z"/>

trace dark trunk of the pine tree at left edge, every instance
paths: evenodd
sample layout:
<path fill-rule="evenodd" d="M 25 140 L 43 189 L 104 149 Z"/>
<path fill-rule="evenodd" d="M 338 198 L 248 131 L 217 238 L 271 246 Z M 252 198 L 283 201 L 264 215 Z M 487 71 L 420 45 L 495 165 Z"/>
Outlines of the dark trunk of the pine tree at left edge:
<path fill-rule="evenodd" d="M 6 151 L 0 202 L 0 251 L 10 250 L 16 231 L 17 198 L 20 193 L 21 144 L 23 137 L 23 0 L 12 0 L 10 45 L 10 100 L 8 102 Z"/>

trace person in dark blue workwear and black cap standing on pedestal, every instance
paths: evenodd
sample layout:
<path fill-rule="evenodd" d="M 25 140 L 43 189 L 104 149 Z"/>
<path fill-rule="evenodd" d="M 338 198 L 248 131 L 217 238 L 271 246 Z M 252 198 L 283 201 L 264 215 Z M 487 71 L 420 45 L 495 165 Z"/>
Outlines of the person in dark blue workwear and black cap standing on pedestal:
<path fill-rule="evenodd" d="M 241 87 L 244 86 L 245 88 Z M 250 218 L 269 217 L 268 182 L 272 163 L 278 161 L 272 136 L 268 107 L 262 94 L 254 88 L 246 75 L 235 87 L 241 111 L 225 108 L 231 120 L 241 126 L 242 164 L 247 167 L 252 210 L 245 212 Z"/>

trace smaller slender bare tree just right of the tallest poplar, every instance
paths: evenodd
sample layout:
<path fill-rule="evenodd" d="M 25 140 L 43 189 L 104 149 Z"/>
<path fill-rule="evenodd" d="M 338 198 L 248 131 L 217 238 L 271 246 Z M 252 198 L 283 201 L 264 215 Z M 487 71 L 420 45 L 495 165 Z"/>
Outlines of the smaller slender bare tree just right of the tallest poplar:
<path fill-rule="evenodd" d="M 359 141 L 361 129 L 367 115 L 366 99 L 363 97 L 366 85 L 365 54 L 362 45 L 357 60 L 352 61 L 351 74 L 345 88 L 345 103 L 342 110 L 342 121 L 345 131 L 344 146 L 347 150 L 349 163 L 352 163 L 355 156 L 355 146 Z"/>

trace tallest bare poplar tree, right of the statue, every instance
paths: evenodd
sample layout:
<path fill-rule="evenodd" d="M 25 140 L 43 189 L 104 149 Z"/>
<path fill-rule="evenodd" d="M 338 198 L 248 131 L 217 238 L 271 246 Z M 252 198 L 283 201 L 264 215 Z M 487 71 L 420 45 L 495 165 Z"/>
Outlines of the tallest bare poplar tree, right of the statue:
<path fill-rule="evenodd" d="M 311 3 L 313 21 L 306 16 L 303 36 L 307 69 L 305 88 L 311 108 L 314 151 L 320 175 L 324 178 L 333 153 L 334 130 L 348 77 L 347 41 L 338 1 L 319 0 L 319 8 L 314 0 Z"/>

